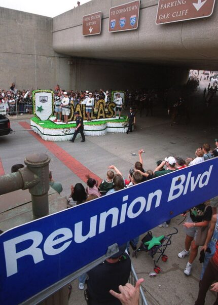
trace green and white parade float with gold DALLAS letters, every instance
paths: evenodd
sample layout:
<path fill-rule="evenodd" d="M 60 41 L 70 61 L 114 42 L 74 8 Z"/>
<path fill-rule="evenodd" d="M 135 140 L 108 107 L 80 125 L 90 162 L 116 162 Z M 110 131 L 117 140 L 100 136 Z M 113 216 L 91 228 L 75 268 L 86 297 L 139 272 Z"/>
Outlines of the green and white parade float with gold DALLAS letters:
<path fill-rule="evenodd" d="M 125 92 L 121 92 L 123 101 Z M 116 92 L 112 93 L 114 97 Z M 86 108 L 84 104 L 70 105 L 70 116 L 68 124 L 54 122 L 54 93 L 50 90 L 33 91 L 33 112 L 35 117 L 31 119 L 31 128 L 46 141 L 67 141 L 72 138 L 75 132 L 76 123 L 74 112 L 78 111 L 84 120 L 84 132 L 88 136 L 101 136 L 107 132 L 124 133 L 127 131 L 126 117 L 121 119 L 113 118 L 116 104 L 113 99 L 105 108 L 104 100 L 95 101 L 94 109 L 91 113 L 91 122 L 86 122 Z M 81 137 L 80 134 L 77 136 Z"/>

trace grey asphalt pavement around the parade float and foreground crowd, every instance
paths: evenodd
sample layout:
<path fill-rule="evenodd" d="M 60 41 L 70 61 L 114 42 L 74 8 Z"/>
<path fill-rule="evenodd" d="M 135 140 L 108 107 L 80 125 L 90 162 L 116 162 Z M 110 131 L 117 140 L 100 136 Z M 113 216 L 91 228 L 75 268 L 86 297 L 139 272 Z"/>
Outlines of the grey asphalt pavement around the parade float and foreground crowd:
<path fill-rule="evenodd" d="M 208 81 L 201 82 L 201 88 L 208 85 Z M 217 93 L 218 95 L 218 93 Z M 100 178 L 105 178 L 108 165 L 116 165 L 123 175 L 127 177 L 130 168 L 138 160 L 137 151 L 143 148 L 146 153 L 142 155 L 144 168 L 154 169 L 157 160 L 163 160 L 168 156 L 180 156 L 183 158 L 194 157 L 196 148 L 203 143 L 214 146 L 214 138 L 218 137 L 216 113 L 217 96 L 209 108 L 206 108 L 202 89 L 193 98 L 191 105 L 191 122 L 186 125 L 170 126 L 170 120 L 166 109 L 155 108 L 154 117 L 136 117 L 137 129 L 130 134 L 107 134 L 102 137 L 86 137 L 86 142 L 56 142 L 61 151 L 66 151 L 70 156 L 78 160 Z M 50 169 L 53 178 L 63 185 L 62 196 L 70 194 L 70 185 L 81 182 L 79 178 L 55 155 L 55 151 L 49 150 L 44 143 L 32 135 L 32 132 L 24 130 L 19 122 L 29 123 L 28 118 L 22 116 L 11 120 L 13 134 L 0 138 L 0 159 L 5 173 L 10 173 L 11 166 L 23 163 L 25 156 L 35 152 L 44 152 L 51 158 Z M 131 153 L 136 153 L 132 156 Z M 85 175 L 85 172 L 84 172 Z M 81 176 L 81 175 L 80 175 Z M 198 282 L 201 265 L 198 259 L 193 264 L 193 273 L 186 277 L 183 273 L 188 258 L 179 259 L 177 253 L 184 249 L 185 233 L 183 232 L 181 216 L 173 218 L 168 228 L 156 227 L 153 233 L 156 236 L 171 233 L 173 226 L 179 230 L 173 237 L 172 245 L 167 249 L 169 257 L 167 262 L 160 262 L 162 273 L 155 278 L 149 277 L 153 271 L 153 261 L 147 253 L 139 253 L 138 258 L 132 262 L 138 277 L 144 278 L 142 287 L 147 301 L 151 305 L 192 305 L 197 297 Z M 72 283 L 70 304 L 85 305 L 83 292 L 78 289 L 78 281 Z M 215 300 L 215 294 L 208 292 L 206 304 L 210 305 Z"/>

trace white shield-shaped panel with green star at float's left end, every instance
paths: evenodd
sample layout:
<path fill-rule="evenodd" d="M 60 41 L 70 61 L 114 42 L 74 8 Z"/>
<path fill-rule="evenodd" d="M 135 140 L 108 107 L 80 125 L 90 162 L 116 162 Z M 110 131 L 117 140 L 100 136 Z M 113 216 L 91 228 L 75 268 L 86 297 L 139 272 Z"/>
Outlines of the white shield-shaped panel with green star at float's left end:
<path fill-rule="evenodd" d="M 33 91 L 34 113 L 41 121 L 48 120 L 53 113 L 53 92 Z"/>

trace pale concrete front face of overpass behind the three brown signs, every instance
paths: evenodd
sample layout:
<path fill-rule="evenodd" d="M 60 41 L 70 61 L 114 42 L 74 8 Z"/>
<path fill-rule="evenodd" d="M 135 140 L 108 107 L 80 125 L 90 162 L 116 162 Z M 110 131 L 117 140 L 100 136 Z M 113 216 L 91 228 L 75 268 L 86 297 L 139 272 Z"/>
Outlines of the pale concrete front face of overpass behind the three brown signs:
<path fill-rule="evenodd" d="M 54 50 L 74 57 L 217 69 L 217 3 L 208 18 L 156 25 L 158 0 L 141 0 L 138 29 L 109 33 L 110 8 L 127 2 L 92 0 L 53 18 Z M 101 34 L 82 36 L 82 17 L 98 11 L 102 11 Z"/>

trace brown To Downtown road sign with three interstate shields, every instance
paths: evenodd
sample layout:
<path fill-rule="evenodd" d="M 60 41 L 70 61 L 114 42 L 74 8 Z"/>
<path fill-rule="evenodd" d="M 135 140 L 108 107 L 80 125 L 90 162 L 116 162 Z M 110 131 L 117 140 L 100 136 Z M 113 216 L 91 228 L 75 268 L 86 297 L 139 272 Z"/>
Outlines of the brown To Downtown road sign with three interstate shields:
<path fill-rule="evenodd" d="M 133 1 L 117 7 L 109 12 L 109 32 L 136 30 L 138 28 L 140 1 Z"/>

